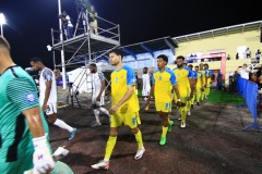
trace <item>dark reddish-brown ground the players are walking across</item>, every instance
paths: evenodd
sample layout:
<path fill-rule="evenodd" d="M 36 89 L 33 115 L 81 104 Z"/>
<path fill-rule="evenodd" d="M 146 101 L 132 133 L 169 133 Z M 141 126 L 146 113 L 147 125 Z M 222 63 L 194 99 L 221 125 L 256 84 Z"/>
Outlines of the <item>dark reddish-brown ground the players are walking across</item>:
<path fill-rule="evenodd" d="M 83 101 L 81 101 L 83 103 Z M 86 103 L 86 102 L 85 102 Z M 179 127 L 178 111 L 172 110 L 175 121 L 167 135 L 166 146 L 158 145 L 162 126 L 154 104 L 144 112 L 141 100 L 140 125 L 145 153 L 133 160 L 136 141 L 128 127 L 120 129 L 108 171 L 93 170 L 91 165 L 104 158 L 108 139 L 109 120 L 102 115 L 103 125 L 91 128 L 95 122 L 88 107 L 59 109 L 58 116 L 78 128 L 72 141 L 69 133 L 50 126 L 52 149 L 66 146 L 70 153 L 61 161 L 71 166 L 75 174 L 233 174 L 262 173 L 262 135 L 258 129 L 242 130 L 252 125 L 253 119 L 247 108 L 219 103 L 195 105 L 187 119 L 187 128 Z M 109 104 L 106 107 L 109 108 Z M 261 117 L 259 117 L 261 121 Z"/>

